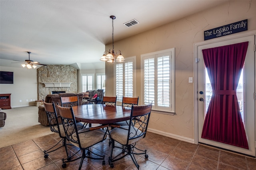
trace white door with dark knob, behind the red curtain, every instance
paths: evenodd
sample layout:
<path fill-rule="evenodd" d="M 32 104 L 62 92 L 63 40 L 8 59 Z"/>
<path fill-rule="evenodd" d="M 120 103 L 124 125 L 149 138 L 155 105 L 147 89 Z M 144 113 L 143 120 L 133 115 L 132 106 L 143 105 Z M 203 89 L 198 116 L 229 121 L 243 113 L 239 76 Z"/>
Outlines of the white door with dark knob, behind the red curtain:
<path fill-rule="evenodd" d="M 243 70 L 243 83 L 244 83 L 244 98 L 242 102 L 244 105 L 244 109 L 242 112 L 244 115 L 244 127 L 246 130 L 246 136 L 248 140 L 249 149 L 243 149 L 240 147 L 235 147 L 233 145 L 227 145 L 224 143 L 219 143 L 216 141 L 203 139 L 201 138 L 202 135 L 202 128 L 204 124 L 204 118 L 206 114 L 206 107 L 207 103 L 209 102 L 209 93 L 206 92 L 206 85 L 207 85 L 207 77 L 206 77 L 206 69 L 204 66 L 204 59 L 202 55 L 202 49 L 208 49 L 213 47 L 220 47 L 224 45 L 231 45 L 235 43 L 242 43 L 245 41 L 249 41 L 248 50 L 246 53 L 245 58 L 245 65 Z M 195 92 L 197 97 L 197 104 L 198 104 L 198 143 L 211 145 L 214 147 L 220 147 L 225 150 L 230 150 L 234 152 L 239 152 L 242 154 L 246 154 L 248 156 L 255 157 L 256 149 L 255 149 L 255 52 L 254 52 L 254 44 L 255 44 L 255 35 L 250 36 L 242 36 L 242 37 L 235 37 L 233 39 L 224 39 L 222 41 L 213 41 L 212 43 L 202 44 L 198 46 L 197 55 L 198 55 L 198 70 L 197 70 L 197 77 L 198 82 Z"/>

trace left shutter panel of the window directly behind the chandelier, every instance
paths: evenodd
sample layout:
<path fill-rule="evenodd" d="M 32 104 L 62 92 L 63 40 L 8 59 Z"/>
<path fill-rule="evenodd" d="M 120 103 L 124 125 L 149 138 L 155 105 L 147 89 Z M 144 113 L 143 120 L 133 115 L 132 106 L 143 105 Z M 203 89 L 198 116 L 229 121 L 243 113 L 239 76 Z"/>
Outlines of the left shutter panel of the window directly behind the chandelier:
<path fill-rule="evenodd" d="M 116 100 L 123 97 L 123 64 L 116 64 Z"/>

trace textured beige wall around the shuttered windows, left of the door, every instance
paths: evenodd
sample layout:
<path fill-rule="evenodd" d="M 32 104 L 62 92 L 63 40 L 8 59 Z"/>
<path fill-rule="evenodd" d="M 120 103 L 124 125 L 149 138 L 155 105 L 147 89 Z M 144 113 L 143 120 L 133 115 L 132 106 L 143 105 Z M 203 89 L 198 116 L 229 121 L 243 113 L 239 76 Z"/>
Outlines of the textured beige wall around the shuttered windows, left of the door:
<path fill-rule="evenodd" d="M 124 57 L 136 56 L 136 94 L 142 99 L 140 55 L 175 48 L 175 115 L 152 113 L 149 128 L 156 133 L 194 141 L 194 43 L 204 41 L 204 31 L 248 19 L 256 29 L 256 1 L 230 1 L 156 29 L 115 42 Z M 111 44 L 106 46 L 110 49 Z M 106 63 L 106 96 L 114 95 L 113 66 Z M 140 101 L 140 104 L 142 102 Z"/>

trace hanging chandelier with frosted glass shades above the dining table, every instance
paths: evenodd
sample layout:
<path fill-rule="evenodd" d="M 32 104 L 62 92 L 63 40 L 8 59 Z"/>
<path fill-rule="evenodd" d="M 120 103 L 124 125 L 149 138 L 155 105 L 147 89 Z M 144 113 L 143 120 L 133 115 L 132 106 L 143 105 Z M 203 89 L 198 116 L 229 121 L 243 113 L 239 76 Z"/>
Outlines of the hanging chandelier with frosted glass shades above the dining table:
<path fill-rule="evenodd" d="M 105 51 L 103 56 L 100 58 L 100 61 L 106 61 L 108 63 L 114 63 L 114 62 L 123 62 L 124 61 L 124 57 L 121 54 L 121 51 L 118 50 L 116 51 L 116 54 L 114 52 L 114 19 L 116 19 L 115 16 L 110 16 L 110 18 L 112 19 L 112 46 L 113 49 L 109 49 L 109 51 Z M 106 52 L 108 53 L 106 55 Z"/>

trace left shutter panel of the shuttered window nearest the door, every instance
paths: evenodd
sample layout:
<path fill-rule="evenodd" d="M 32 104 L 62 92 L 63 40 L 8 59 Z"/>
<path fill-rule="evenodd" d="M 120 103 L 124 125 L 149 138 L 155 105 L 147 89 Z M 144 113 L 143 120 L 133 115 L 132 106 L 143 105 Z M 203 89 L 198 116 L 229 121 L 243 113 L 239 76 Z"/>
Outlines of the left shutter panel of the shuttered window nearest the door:
<path fill-rule="evenodd" d="M 155 91 L 154 76 L 154 58 L 144 60 L 144 104 L 153 103 Z"/>

